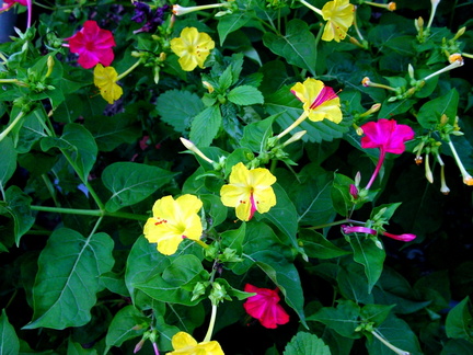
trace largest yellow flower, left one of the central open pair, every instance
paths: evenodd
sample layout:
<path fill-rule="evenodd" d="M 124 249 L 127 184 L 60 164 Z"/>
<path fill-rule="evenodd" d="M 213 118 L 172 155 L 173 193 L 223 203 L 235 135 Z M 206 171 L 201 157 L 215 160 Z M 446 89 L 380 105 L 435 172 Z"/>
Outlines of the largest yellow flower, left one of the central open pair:
<path fill-rule="evenodd" d="M 152 208 L 153 217 L 148 218 L 143 233 L 150 243 L 158 243 L 158 251 L 172 255 L 183 239 L 198 241 L 203 227 L 197 215 L 203 203 L 194 195 L 172 196 L 158 199 Z"/>

